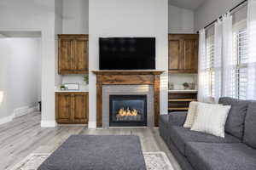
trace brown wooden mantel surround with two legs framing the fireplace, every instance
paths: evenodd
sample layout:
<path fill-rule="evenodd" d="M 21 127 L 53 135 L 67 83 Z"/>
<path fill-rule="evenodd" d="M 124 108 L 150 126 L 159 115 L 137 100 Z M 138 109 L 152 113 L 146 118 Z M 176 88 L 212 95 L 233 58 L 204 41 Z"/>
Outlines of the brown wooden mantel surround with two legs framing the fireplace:
<path fill-rule="evenodd" d="M 96 124 L 102 127 L 103 85 L 152 85 L 154 86 L 154 126 L 160 116 L 160 75 L 164 71 L 92 71 L 96 74 Z"/>

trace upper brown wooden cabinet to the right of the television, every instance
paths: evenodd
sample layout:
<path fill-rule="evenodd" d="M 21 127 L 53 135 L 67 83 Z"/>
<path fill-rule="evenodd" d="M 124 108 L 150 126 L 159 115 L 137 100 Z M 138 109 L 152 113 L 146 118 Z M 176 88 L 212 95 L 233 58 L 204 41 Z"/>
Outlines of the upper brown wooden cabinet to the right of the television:
<path fill-rule="evenodd" d="M 198 34 L 169 34 L 169 72 L 197 73 Z"/>

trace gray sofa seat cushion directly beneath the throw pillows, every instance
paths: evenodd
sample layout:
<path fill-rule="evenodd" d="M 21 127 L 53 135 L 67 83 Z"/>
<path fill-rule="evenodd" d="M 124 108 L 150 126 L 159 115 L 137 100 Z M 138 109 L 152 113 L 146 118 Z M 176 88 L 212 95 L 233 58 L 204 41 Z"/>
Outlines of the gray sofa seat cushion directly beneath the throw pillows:
<path fill-rule="evenodd" d="M 225 134 L 225 138 L 213 136 L 207 133 L 191 131 L 188 128 L 171 126 L 170 136 L 172 143 L 184 155 L 185 147 L 188 142 L 206 142 L 206 143 L 239 143 L 240 140 Z"/>

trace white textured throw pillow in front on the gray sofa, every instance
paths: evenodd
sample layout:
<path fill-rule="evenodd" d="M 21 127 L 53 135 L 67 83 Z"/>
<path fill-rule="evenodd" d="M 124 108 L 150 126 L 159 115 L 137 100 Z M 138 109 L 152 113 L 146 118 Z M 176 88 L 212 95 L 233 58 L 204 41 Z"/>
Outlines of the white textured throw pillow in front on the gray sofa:
<path fill-rule="evenodd" d="M 199 103 L 197 116 L 191 130 L 224 138 L 224 127 L 230 108 L 230 105 Z"/>

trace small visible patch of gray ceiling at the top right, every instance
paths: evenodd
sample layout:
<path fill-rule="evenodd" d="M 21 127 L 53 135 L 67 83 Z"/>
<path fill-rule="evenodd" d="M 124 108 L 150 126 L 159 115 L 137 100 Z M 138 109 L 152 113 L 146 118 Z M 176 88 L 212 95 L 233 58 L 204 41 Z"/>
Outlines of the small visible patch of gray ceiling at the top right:
<path fill-rule="evenodd" d="M 189 8 L 195 10 L 206 0 L 169 0 L 169 4 L 180 8 Z"/>

